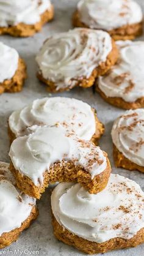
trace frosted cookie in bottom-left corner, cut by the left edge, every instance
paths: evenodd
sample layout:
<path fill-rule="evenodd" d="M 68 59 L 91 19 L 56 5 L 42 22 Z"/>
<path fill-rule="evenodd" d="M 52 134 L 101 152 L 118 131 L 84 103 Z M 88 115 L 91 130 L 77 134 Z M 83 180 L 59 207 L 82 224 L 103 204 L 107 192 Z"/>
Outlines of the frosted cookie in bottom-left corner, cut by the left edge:
<path fill-rule="evenodd" d="M 16 188 L 9 164 L 0 162 L 0 249 L 18 239 L 38 216 L 35 199 Z"/>

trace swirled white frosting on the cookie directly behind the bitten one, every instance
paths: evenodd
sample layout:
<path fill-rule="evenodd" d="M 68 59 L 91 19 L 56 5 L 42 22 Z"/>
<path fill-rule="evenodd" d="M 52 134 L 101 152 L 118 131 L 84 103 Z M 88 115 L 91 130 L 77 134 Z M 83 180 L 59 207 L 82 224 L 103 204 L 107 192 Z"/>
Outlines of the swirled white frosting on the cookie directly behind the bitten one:
<path fill-rule="evenodd" d="M 16 137 L 29 134 L 35 125 L 56 124 L 61 124 L 84 140 L 90 140 L 96 131 L 95 115 L 90 105 L 65 97 L 34 100 L 22 110 L 14 111 L 9 118 L 10 129 Z"/>

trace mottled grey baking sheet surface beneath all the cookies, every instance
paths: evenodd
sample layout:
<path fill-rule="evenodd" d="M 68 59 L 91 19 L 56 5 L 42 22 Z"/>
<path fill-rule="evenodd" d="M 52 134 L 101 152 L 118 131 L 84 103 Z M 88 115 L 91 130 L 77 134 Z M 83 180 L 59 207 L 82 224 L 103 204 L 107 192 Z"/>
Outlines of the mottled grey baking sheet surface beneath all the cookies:
<path fill-rule="evenodd" d="M 139 0 L 143 7 L 144 1 Z M 115 168 L 112 157 L 112 140 L 110 131 L 115 118 L 124 113 L 123 110 L 112 107 L 104 102 L 101 97 L 95 93 L 92 88 L 82 89 L 75 88 L 70 92 L 61 94 L 48 94 L 45 86 L 43 86 L 36 78 L 35 73 L 37 65 L 35 63 L 35 55 L 41 47 L 43 41 L 56 32 L 68 31 L 71 26 L 71 15 L 76 8 L 76 0 L 54 0 L 52 3 L 55 6 L 55 18 L 51 23 L 46 24 L 43 30 L 35 34 L 34 37 L 19 39 L 10 36 L 1 36 L 0 40 L 10 47 L 14 47 L 20 53 L 27 64 L 28 78 L 24 89 L 20 93 L 9 94 L 5 93 L 0 96 L 0 160 L 9 162 L 9 138 L 7 135 L 7 119 L 13 110 L 24 107 L 32 100 L 46 96 L 65 96 L 74 97 L 84 100 L 98 111 L 99 119 L 104 123 L 106 128 L 103 137 L 100 140 L 100 146 L 108 155 L 112 164 L 112 172 L 133 179 L 144 189 L 144 175 L 139 171 L 128 171 L 121 168 Z M 143 40 L 144 36 L 140 38 Z M 48 255 L 48 256 L 80 256 L 82 252 L 67 246 L 54 238 L 51 225 L 51 205 L 50 205 L 50 190 L 47 189 L 40 201 L 37 202 L 40 215 L 31 227 L 24 231 L 17 242 L 11 246 L 1 249 L 0 255 Z M 101 255 L 101 254 L 99 254 Z M 134 249 L 125 249 L 109 252 L 107 256 L 144 256 L 144 245 Z"/>

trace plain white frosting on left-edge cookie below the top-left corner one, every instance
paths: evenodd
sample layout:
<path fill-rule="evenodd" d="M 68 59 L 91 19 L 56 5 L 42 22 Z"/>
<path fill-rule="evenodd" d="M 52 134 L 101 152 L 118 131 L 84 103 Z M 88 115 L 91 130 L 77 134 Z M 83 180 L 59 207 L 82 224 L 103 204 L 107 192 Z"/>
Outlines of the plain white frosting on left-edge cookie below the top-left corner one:
<path fill-rule="evenodd" d="M 18 52 L 0 42 L 0 83 L 11 79 L 18 69 Z"/>

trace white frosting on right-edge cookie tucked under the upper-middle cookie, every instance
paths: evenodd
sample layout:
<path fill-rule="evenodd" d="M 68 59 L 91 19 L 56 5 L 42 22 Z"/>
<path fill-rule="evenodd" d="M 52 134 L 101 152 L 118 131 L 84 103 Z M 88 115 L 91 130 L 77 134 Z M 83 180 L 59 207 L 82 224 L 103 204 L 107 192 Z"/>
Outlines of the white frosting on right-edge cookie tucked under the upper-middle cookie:
<path fill-rule="evenodd" d="M 99 77 L 98 87 L 107 97 L 126 102 L 144 97 L 144 42 L 118 41 L 120 59 L 109 73 Z"/>

